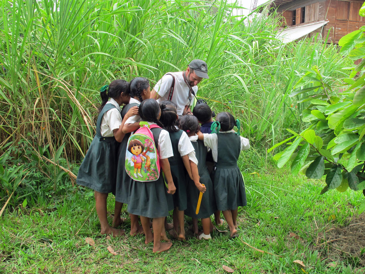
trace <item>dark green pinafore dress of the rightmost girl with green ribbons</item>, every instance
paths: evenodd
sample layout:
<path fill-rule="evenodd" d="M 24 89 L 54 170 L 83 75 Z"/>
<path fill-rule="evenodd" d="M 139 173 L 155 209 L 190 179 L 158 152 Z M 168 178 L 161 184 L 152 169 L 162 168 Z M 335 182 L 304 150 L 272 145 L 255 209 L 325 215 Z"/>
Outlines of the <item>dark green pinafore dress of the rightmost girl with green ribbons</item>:
<path fill-rule="evenodd" d="M 218 159 L 215 163 L 214 192 L 218 210 L 247 205 L 245 183 L 237 166 L 241 139 L 234 132 L 219 133 Z"/>

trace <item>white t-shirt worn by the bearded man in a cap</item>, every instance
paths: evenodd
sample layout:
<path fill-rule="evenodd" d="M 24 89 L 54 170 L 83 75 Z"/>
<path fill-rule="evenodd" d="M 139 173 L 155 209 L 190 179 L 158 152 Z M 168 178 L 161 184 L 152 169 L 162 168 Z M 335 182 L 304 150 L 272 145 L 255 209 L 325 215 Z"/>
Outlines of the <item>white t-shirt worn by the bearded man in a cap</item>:
<path fill-rule="evenodd" d="M 189 87 L 184 81 L 183 72 L 168 72 L 175 76 L 175 87 L 174 87 L 174 93 L 172 95 L 171 101 L 177 104 L 177 114 L 183 115 L 183 111 L 185 106 L 189 106 Z M 185 73 L 185 72 L 184 72 Z M 161 96 L 160 99 L 157 99 L 158 103 L 161 103 L 164 100 L 167 100 L 169 98 L 170 93 L 170 87 L 172 84 L 172 76 L 165 74 L 162 76 L 160 80 L 156 83 L 154 86 L 154 90 L 157 92 L 158 95 Z M 197 94 L 198 87 L 194 86 L 192 87 L 193 91 L 195 92 L 195 95 Z M 193 101 L 194 95 L 191 95 Z M 192 103 L 192 102 L 191 102 Z"/>

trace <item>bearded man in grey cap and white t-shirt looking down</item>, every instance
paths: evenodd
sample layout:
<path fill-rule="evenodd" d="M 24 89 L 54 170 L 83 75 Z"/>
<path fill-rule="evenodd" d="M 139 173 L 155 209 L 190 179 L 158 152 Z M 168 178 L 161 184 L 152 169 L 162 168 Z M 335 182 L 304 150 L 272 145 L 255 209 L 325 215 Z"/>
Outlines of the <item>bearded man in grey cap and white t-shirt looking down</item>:
<path fill-rule="evenodd" d="M 173 77 L 174 76 L 174 77 Z M 173 78 L 175 83 L 172 88 Z M 201 80 L 209 79 L 208 66 L 203 60 L 195 59 L 190 62 L 186 71 L 168 72 L 154 86 L 151 97 L 158 103 L 169 100 L 177 105 L 177 114 L 185 115 L 190 112 L 190 105 Z M 192 91 L 191 91 L 192 90 Z"/>

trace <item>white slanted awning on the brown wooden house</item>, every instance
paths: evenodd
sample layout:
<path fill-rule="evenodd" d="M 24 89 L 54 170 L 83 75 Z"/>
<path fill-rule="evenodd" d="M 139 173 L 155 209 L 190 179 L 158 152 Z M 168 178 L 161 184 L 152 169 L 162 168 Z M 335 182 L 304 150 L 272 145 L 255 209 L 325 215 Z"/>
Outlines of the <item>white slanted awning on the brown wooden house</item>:
<path fill-rule="evenodd" d="M 315 31 L 320 27 L 323 27 L 328 22 L 329 21 L 320 21 L 306 24 L 304 26 L 287 27 L 284 28 L 283 31 L 277 35 L 276 38 L 282 40 L 284 44 L 287 44 L 303 36 L 306 36 L 307 34 Z"/>

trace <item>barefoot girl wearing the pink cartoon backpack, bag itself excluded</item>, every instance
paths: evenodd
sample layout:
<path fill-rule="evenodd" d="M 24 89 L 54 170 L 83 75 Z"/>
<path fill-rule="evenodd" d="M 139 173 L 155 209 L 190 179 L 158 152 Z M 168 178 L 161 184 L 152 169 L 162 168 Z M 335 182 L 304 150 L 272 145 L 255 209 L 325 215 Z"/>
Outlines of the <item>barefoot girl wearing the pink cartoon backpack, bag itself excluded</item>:
<path fill-rule="evenodd" d="M 139 105 L 138 113 L 143 121 L 148 122 L 150 125 L 157 124 L 163 127 L 162 123 L 158 121 L 161 116 L 161 110 L 156 100 L 143 100 Z M 176 187 L 172 179 L 168 160 L 169 157 L 173 156 L 169 133 L 160 128 L 152 128 L 151 131 L 155 142 L 157 142 L 161 168 L 168 184 L 168 193 L 174 194 Z M 171 247 L 171 242 L 161 243 L 162 227 L 165 217 L 169 214 L 165 183 L 162 175 L 153 182 L 137 182 L 132 180 L 127 210 L 131 214 L 141 216 L 143 231 L 146 235 L 145 243 L 148 244 L 153 241 L 153 252 L 162 252 Z M 150 229 L 149 218 L 153 218 L 153 234 Z"/>

